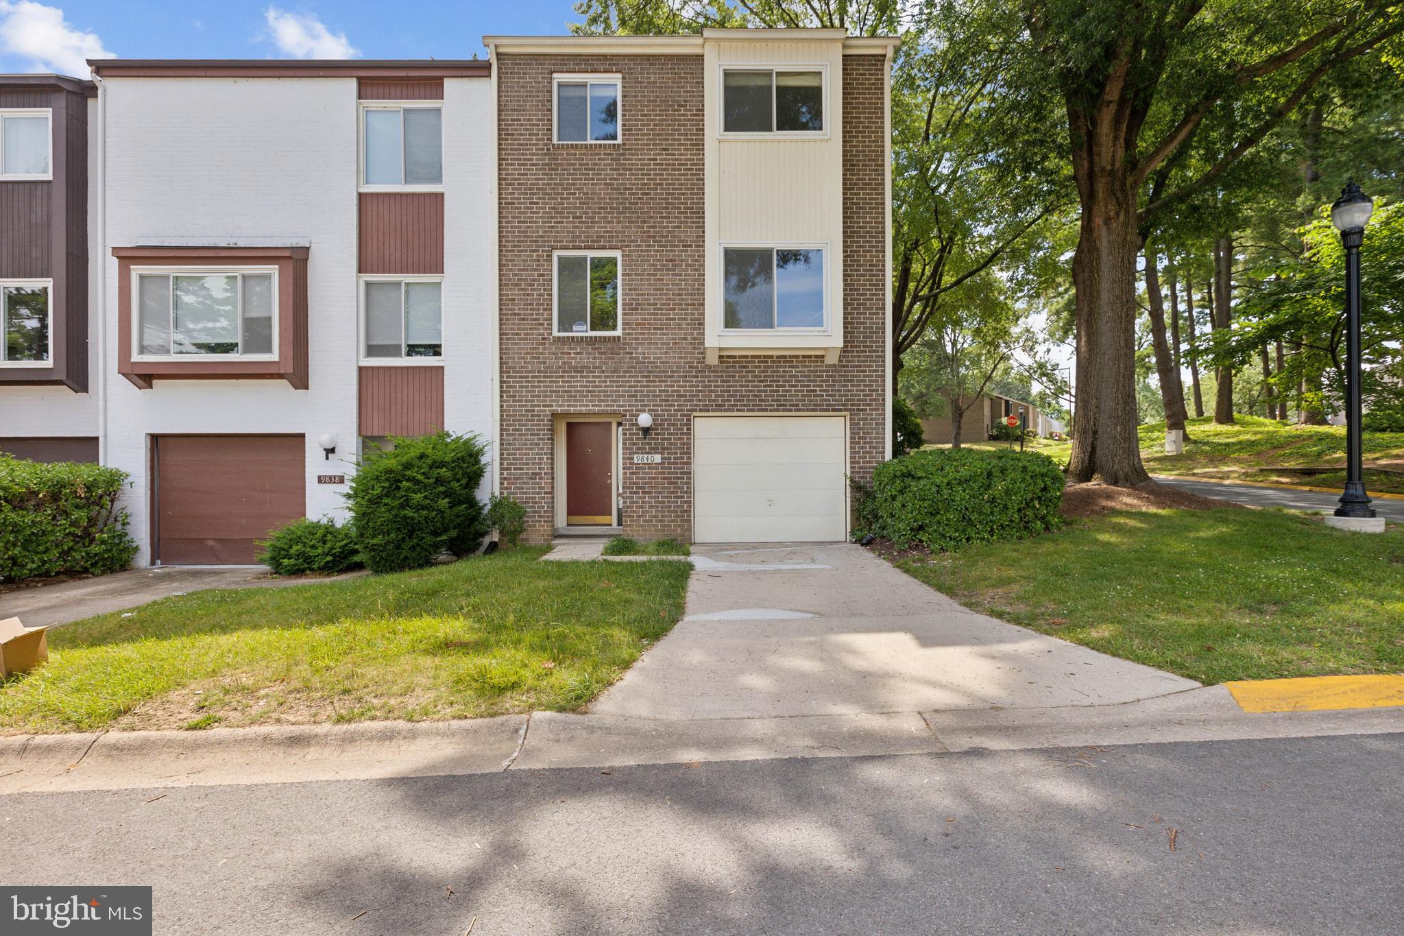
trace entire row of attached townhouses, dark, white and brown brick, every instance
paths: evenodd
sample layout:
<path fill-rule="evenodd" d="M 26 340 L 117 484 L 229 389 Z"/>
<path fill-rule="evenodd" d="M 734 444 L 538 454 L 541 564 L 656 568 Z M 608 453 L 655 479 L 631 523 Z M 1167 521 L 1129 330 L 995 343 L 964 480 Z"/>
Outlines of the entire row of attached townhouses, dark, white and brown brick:
<path fill-rule="evenodd" d="M 534 540 L 840 540 L 890 456 L 889 70 L 842 29 L 0 77 L 0 450 L 254 561 L 357 457 L 491 442 Z"/>

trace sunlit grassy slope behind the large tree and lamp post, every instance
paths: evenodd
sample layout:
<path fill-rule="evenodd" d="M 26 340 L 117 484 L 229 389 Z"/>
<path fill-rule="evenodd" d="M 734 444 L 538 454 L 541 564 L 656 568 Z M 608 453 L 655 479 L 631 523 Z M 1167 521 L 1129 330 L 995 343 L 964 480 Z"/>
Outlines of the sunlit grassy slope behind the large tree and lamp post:
<path fill-rule="evenodd" d="M 1309 487 L 1339 487 L 1344 467 L 1332 474 L 1275 472 L 1283 467 L 1325 467 L 1345 464 L 1345 427 L 1294 425 L 1254 415 L 1236 415 L 1234 425 L 1213 420 L 1189 420 L 1189 443 L 1182 455 L 1165 455 L 1165 424 L 1140 427 L 1141 459 L 1153 474 L 1184 474 L 1240 481 L 1276 481 Z M 1404 469 L 1404 432 L 1366 432 L 1366 464 L 1372 462 Z M 1404 494 L 1404 476 L 1365 473 L 1369 490 Z"/>

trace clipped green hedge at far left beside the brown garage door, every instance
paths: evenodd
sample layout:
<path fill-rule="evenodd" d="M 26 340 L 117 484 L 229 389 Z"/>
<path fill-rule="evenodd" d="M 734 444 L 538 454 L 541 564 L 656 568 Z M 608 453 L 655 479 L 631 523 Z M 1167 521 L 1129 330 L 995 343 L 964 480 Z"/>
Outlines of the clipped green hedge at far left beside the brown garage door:
<path fill-rule="evenodd" d="M 126 472 L 0 455 L 0 580 L 126 568 L 136 543 L 117 500 Z"/>

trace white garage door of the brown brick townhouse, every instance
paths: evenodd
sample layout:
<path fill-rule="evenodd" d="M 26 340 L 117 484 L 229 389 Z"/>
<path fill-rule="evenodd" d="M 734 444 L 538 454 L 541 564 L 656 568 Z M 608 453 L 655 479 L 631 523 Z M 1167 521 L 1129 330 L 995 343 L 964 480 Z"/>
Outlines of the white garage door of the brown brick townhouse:
<path fill-rule="evenodd" d="M 699 543 L 837 542 L 848 536 L 844 417 L 692 421 L 692 536 Z"/>

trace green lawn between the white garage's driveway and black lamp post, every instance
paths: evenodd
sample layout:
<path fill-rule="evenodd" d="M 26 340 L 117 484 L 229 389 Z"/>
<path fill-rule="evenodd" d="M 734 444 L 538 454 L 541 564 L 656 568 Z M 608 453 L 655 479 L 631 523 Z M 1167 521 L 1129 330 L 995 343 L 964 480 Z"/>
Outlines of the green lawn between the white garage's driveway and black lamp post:
<path fill-rule="evenodd" d="M 1280 511 L 1113 512 L 897 557 L 976 610 L 1206 683 L 1404 671 L 1404 529 Z"/>

